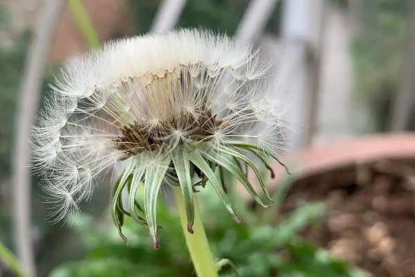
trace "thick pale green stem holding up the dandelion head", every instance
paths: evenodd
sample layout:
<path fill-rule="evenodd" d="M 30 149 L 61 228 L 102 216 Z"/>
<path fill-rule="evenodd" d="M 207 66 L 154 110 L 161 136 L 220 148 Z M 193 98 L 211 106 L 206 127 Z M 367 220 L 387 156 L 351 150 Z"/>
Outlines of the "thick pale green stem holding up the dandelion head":
<path fill-rule="evenodd" d="M 189 249 L 190 257 L 192 258 L 194 269 L 199 277 L 219 277 L 218 269 L 213 260 L 212 252 L 210 251 L 208 238 L 206 237 L 205 229 L 201 220 L 199 211 L 199 204 L 196 193 L 194 196 L 194 224 L 191 234 L 187 231 L 187 217 L 185 210 L 185 202 L 181 192 L 181 187 L 175 186 L 174 197 L 176 197 L 176 204 L 178 213 L 180 214 L 180 221 L 185 233 L 187 249 Z"/>

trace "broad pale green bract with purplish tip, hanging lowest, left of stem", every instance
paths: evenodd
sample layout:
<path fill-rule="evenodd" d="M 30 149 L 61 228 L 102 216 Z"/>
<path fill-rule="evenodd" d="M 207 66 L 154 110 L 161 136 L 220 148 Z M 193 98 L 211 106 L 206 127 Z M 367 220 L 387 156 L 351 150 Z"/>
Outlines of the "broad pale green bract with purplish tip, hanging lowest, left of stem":
<path fill-rule="evenodd" d="M 166 157 L 165 159 L 156 161 L 156 163 L 159 164 L 147 166 L 144 181 L 144 210 L 154 249 L 158 249 L 159 247 L 157 233 L 158 226 L 156 222 L 157 197 L 167 167 L 169 166 L 170 159 Z"/>

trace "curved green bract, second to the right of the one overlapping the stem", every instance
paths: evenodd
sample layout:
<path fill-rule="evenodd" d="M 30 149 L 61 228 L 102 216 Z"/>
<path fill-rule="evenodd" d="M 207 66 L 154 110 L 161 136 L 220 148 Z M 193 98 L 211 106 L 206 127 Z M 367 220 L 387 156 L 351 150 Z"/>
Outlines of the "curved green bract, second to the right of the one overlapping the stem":
<path fill-rule="evenodd" d="M 201 153 L 207 159 L 210 159 L 214 163 L 217 163 L 219 166 L 225 168 L 225 170 L 228 170 L 229 172 L 231 172 L 235 177 L 237 177 L 237 179 L 241 182 L 241 184 L 243 184 L 246 190 L 248 190 L 248 193 L 252 196 L 253 199 L 255 199 L 255 201 L 257 201 L 264 208 L 269 208 L 269 206 L 264 204 L 261 198 L 259 198 L 259 196 L 257 195 L 257 192 L 250 184 L 246 175 L 244 175 L 242 170 L 238 166 L 236 166 L 232 161 L 230 161 L 229 159 L 226 159 L 221 154 L 218 154 L 217 152 L 214 152 L 214 151 L 202 150 Z"/>

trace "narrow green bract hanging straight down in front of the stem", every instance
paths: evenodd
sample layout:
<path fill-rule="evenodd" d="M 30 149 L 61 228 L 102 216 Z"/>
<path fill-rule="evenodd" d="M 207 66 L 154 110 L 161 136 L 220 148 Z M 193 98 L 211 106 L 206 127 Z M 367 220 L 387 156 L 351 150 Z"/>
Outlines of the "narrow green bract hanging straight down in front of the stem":
<path fill-rule="evenodd" d="M 172 159 L 181 186 L 187 215 L 187 231 L 193 233 L 194 202 L 192 177 L 190 176 L 190 160 L 187 148 L 177 147 L 172 152 Z"/>

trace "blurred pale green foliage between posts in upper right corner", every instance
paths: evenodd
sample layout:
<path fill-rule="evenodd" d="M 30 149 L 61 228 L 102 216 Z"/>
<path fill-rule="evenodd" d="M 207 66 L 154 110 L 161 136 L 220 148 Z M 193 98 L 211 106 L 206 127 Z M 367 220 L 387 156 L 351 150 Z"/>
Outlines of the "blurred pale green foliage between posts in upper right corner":
<path fill-rule="evenodd" d="M 352 44 L 359 100 L 374 118 L 372 131 L 384 131 L 392 96 L 398 91 L 407 51 L 414 1 L 365 0 L 360 30 Z"/>

